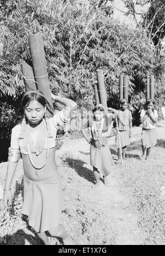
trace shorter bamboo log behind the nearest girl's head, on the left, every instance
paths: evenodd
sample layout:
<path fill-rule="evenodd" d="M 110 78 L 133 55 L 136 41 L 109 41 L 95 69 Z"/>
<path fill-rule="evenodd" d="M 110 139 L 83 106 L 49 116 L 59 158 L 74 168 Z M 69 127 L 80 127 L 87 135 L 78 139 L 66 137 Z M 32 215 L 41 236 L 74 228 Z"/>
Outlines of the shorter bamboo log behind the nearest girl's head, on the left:
<path fill-rule="evenodd" d="M 36 90 L 36 83 L 34 79 L 34 73 L 32 67 L 29 66 L 25 61 L 21 64 L 21 70 L 24 77 L 24 84 L 26 92 L 28 90 Z"/>

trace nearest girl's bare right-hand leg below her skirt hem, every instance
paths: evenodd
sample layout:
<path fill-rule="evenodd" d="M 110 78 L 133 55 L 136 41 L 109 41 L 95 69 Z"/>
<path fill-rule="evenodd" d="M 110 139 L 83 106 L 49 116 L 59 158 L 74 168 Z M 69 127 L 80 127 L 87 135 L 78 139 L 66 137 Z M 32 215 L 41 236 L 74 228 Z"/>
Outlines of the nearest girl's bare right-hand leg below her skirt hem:
<path fill-rule="evenodd" d="M 59 224 L 57 227 L 48 230 L 48 232 L 52 237 L 62 238 L 64 245 L 74 245 L 72 239 L 70 238 L 63 225 Z"/>

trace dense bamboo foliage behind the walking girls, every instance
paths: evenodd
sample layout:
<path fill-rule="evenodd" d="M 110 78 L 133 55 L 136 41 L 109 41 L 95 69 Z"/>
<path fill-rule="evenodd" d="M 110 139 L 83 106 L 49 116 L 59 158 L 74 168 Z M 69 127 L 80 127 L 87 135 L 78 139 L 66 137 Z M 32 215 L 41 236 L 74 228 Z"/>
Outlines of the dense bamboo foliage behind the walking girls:
<path fill-rule="evenodd" d="M 119 97 L 120 73 L 128 74 L 133 93 L 134 78 L 145 81 L 146 70 L 153 70 L 155 49 L 146 31 L 112 20 L 108 1 L 5 0 L 1 5 L 1 94 L 15 97 L 24 92 L 20 65 L 31 65 L 29 33 L 43 34 L 53 93 L 75 99 L 80 106 L 92 105 L 92 83 L 99 68 L 110 99 Z"/>

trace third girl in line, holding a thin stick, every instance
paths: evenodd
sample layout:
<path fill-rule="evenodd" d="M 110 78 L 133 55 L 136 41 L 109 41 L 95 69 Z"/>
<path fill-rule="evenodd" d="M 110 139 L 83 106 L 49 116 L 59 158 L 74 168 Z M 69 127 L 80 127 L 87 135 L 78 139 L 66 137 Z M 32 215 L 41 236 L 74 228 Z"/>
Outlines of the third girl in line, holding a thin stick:
<path fill-rule="evenodd" d="M 125 157 L 127 146 L 130 145 L 130 137 L 132 135 L 132 114 L 131 111 L 128 110 L 128 100 L 122 99 L 120 100 L 120 109 L 117 118 L 119 135 L 116 136 L 116 142 L 118 147 L 118 161 L 120 161 L 120 147 L 123 151 L 123 159 L 127 159 Z M 120 140 L 120 141 L 119 141 Z M 119 143 L 120 142 L 120 143 Z"/>

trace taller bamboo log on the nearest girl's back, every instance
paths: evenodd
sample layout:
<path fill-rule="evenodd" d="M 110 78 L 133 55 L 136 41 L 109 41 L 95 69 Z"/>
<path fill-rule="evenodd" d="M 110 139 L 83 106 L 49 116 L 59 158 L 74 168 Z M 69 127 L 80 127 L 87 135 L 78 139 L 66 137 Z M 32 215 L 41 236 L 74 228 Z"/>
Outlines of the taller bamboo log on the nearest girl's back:
<path fill-rule="evenodd" d="M 48 80 L 45 51 L 41 33 L 29 34 L 29 45 L 36 87 L 43 93 L 43 95 L 45 95 L 48 102 L 48 110 L 53 113 L 54 110 L 51 98 L 50 82 Z"/>

